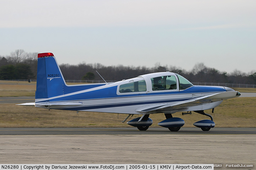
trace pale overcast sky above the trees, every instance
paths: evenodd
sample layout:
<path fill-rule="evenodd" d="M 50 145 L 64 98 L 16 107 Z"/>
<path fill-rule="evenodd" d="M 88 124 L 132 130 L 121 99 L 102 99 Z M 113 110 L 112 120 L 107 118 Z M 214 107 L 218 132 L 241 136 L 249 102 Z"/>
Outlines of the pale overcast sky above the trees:
<path fill-rule="evenodd" d="M 0 55 L 256 72 L 255 0 L 0 0 Z"/>

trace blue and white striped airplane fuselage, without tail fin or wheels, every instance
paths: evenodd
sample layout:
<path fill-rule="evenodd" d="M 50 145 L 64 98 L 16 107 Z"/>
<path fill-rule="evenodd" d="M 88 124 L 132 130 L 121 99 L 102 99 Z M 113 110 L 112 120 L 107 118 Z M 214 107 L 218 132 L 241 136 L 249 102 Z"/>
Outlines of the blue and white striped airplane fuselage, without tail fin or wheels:
<path fill-rule="evenodd" d="M 155 77 L 173 77 L 176 80 L 176 86 L 174 89 L 163 89 L 163 90 L 153 90 L 151 79 Z M 53 80 L 51 80 L 53 81 Z M 122 85 L 142 82 L 141 91 L 132 91 L 134 85 L 131 85 L 131 91 L 122 92 L 120 87 Z M 94 84 L 79 85 L 80 88 L 92 86 Z M 36 103 L 44 102 L 68 102 L 68 103 L 81 103 L 81 106 L 37 106 L 47 109 L 63 109 L 63 110 L 73 110 L 73 111 L 89 111 L 89 112 L 107 112 L 107 113 L 123 113 L 123 114 L 142 114 L 138 112 L 139 108 L 143 108 L 146 105 L 161 105 L 164 103 L 174 104 L 177 102 L 191 100 L 193 98 L 208 96 L 226 91 L 227 87 L 217 87 L 217 86 L 193 86 L 191 85 L 187 89 L 180 89 L 179 79 L 175 73 L 161 72 L 161 73 L 151 73 L 139 76 L 137 78 L 118 81 L 110 84 L 99 84 L 100 86 L 80 90 L 77 92 L 59 95 L 49 98 L 49 100 L 36 99 Z M 68 85 L 66 85 L 68 86 Z M 71 85 L 72 86 L 72 85 Z M 70 86 L 70 87 L 71 87 Z M 78 86 L 78 85 L 76 85 Z M 129 86 L 129 85 L 128 85 Z M 74 86 L 73 86 L 74 87 Z M 169 86 L 168 86 L 169 87 Z M 189 108 L 183 108 L 178 110 L 165 111 L 165 113 L 175 113 L 183 111 L 197 111 L 197 110 L 207 110 L 218 106 L 222 101 L 206 103 L 198 106 L 193 106 Z M 151 112 L 162 113 L 159 111 Z"/>

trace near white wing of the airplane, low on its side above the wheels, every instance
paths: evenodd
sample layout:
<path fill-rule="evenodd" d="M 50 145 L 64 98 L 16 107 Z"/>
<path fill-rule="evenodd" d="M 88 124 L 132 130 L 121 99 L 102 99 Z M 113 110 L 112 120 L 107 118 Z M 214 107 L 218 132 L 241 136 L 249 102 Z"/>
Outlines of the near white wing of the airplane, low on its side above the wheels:
<path fill-rule="evenodd" d="M 225 92 L 220 92 L 220 93 L 213 94 L 213 95 L 193 98 L 191 100 L 181 101 L 181 102 L 177 102 L 177 103 L 151 104 L 148 106 L 137 108 L 136 112 L 145 114 L 145 112 L 156 112 L 156 111 L 161 112 L 161 111 L 167 111 L 167 110 L 168 111 L 179 110 L 179 109 L 185 109 L 187 107 L 217 102 L 217 101 L 221 101 L 221 100 L 225 100 L 225 99 L 229 99 L 229 98 L 233 98 L 233 97 L 239 97 L 239 96 L 240 96 L 240 93 L 237 91 L 225 91 Z"/>

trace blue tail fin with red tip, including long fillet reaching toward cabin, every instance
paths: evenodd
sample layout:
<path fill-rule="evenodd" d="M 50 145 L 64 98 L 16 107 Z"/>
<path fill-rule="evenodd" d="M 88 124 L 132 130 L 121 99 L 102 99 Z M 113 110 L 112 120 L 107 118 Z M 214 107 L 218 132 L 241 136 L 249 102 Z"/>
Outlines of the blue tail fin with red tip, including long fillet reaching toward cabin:
<path fill-rule="evenodd" d="M 103 86 L 105 84 L 106 83 L 66 85 L 62 72 L 60 71 L 59 65 L 53 53 L 38 54 L 37 87 L 35 96 L 36 102 L 50 102 L 51 97 L 61 97 L 66 94 Z M 62 98 L 61 100 L 72 99 L 70 97 L 66 97 Z M 55 99 L 54 101 L 58 101 L 58 99 Z"/>

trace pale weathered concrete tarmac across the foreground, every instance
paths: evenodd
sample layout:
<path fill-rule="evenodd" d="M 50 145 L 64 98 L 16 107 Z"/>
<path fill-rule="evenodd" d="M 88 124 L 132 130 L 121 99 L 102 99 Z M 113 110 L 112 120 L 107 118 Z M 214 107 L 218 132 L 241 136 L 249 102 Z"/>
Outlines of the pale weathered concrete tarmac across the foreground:
<path fill-rule="evenodd" d="M 184 129 L 179 131 L 186 131 L 184 134 L 159 129 L 155 131 L 166 133 L 122 134 L 125 130 L 96 128 L 88 130 L 95 134 L 84 135 L 66 135 L 68 129 L 62 135 L 39 135 L 39 130 L 35 130 L 38 135 L 1 135 L 0 164 L 253 164 L 255 168 L 255 128 L 236 128 L 237 134 L 228 129 L 224 134 L 210 134 L 213 129 Z M 32 130 L 14 131 L 29 134 Z M 198 132 L 189 134 L 191 131 Z"/>

